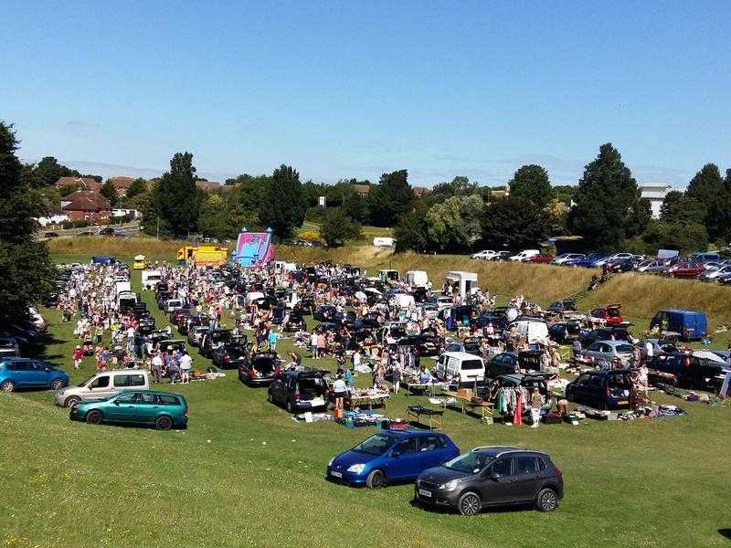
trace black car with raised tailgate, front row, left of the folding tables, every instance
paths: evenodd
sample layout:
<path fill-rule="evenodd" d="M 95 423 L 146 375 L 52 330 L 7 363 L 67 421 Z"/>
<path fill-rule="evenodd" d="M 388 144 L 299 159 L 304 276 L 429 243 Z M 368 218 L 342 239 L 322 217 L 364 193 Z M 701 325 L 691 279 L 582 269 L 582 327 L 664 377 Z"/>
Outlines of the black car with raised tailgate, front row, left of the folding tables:
<path fill-rule="evenodd" d="M 303 369 L 285 371 L 269 385 L 267 398 L 289 413 L 327 409 L 328 371 Z"/>

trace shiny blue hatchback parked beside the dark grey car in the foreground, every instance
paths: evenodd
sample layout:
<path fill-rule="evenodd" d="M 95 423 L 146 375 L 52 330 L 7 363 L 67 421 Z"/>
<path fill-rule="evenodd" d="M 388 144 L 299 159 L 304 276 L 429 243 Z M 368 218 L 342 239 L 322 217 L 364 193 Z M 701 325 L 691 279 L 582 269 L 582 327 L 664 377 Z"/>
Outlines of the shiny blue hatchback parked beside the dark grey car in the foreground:
<path fill-rule="evenodd" d="M 430 430 L 381 430 L 332 458 L 327 479 L 371 489 L 417 479 L 426 469 L 460 454 L 446 434 Z"/>

